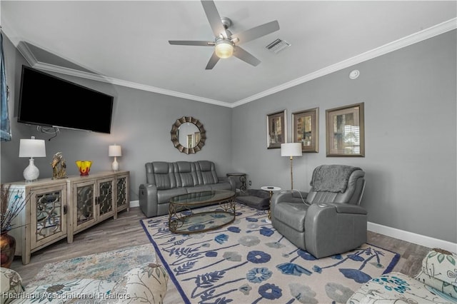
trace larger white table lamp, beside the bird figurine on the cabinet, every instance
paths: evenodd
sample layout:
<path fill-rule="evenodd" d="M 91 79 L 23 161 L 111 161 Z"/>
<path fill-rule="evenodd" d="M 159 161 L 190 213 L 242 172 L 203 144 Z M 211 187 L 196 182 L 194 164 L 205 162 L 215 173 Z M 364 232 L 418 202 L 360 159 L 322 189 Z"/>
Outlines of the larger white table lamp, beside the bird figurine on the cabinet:
<path fill-rule="evenodd" d="M 26 182 L 35 181 L 40 175 L 39 168 L 36 168 L 34 157 L 46 157 L 46 148 L 43 139 L 21 139 L 19 141 L 19 157 L 29 157 L 29 166 L 24 169 Z"/>

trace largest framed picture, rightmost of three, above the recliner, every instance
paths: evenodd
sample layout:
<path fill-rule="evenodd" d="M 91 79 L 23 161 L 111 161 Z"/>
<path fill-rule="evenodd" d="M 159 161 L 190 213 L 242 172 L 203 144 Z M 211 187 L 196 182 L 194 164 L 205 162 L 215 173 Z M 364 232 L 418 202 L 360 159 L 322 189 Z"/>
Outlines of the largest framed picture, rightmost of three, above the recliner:
<path fill-rule="evenodd" d="M 365 157 L 364 103 L 326 110 L 327 157 Z"/>

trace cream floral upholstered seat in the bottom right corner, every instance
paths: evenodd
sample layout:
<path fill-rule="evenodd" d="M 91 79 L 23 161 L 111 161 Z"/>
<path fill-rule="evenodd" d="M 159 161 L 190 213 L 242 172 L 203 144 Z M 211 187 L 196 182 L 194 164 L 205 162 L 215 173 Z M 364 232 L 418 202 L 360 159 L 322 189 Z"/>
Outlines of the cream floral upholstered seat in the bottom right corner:
<path fill-rule="evenodd" d="M 457 303 L 457 255 L 433 249 L 416 277 L 388 273 L 373 278 L 347 303 Z"/>

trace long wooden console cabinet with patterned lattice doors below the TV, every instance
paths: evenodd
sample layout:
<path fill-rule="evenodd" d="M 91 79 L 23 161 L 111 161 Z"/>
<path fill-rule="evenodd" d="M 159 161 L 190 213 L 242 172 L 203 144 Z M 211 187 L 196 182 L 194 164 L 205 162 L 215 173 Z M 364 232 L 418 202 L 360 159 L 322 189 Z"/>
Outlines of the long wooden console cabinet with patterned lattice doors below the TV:
<path fill-rule="evenodd" d="M 9 232 L 24 265 L 36 250 L 63 238 L 72 243 L 76 233 L 129 209 L 129 171 L 8 184 L 10 193 L 30 196 Z"/>

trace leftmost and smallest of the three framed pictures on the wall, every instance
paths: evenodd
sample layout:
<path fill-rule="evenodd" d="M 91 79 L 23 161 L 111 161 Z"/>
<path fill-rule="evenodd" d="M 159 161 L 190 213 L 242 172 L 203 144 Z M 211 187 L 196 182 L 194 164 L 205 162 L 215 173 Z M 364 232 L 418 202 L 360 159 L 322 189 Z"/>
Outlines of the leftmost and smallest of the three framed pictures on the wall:
<path fill-rule="evenodd" d="M 286 143 L 287 123 L 286 110 L 266 116 L 266 146 L 268 149 L 281 148 Z"/>

